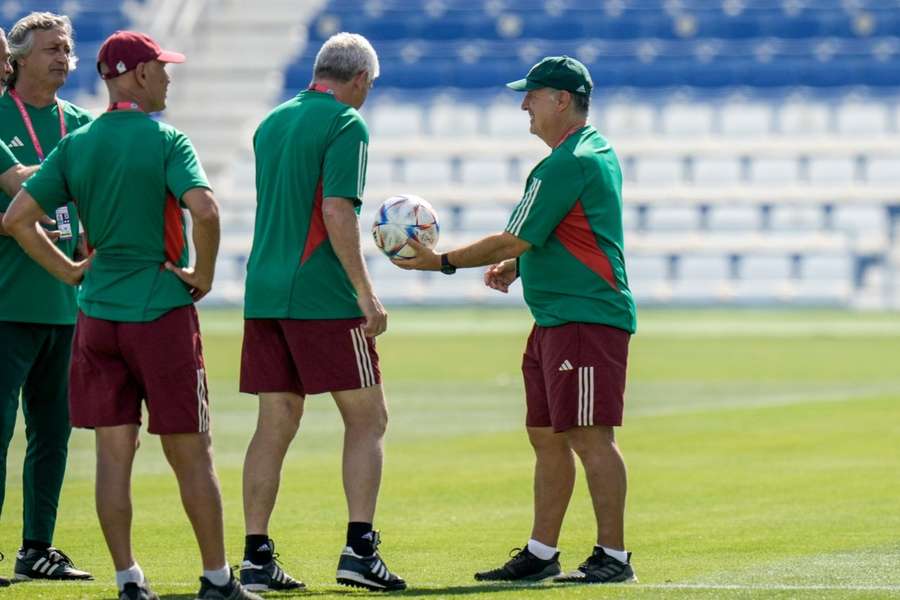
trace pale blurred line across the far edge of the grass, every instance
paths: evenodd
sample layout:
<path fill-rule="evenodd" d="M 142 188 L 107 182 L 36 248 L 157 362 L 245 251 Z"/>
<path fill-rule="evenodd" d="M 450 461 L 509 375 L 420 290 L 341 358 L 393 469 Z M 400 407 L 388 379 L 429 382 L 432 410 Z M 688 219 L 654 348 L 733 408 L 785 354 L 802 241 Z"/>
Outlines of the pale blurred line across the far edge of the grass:
<path fill-rule="evenodd" d="M 243 320 L 222 320 L 215 317 L 201 319 L 201 330 L 209 333 L 238 334 L 243 331 Z M 489 316 L 479 321 L 465 320 L 452 322 L 442 319 L 430 319 L 423 316 L 420 320 L 395 320 L 388 327 L 388 335 L 398 334 L 433 334 L 433 335 L 472 335 L 472 334 L 517 334 L 526 336 L 532 323 L 527 320 L 492 321 Z M 900 319 L 897 321 L 865 321 L 840 319 L 830 321 L 813 321 L 808 318 L 797 320 L 698 320 L 657 321 L 638 318 L 638 337 L 663 338 L 719 338 L 719 337 L 900 337 Z"/>

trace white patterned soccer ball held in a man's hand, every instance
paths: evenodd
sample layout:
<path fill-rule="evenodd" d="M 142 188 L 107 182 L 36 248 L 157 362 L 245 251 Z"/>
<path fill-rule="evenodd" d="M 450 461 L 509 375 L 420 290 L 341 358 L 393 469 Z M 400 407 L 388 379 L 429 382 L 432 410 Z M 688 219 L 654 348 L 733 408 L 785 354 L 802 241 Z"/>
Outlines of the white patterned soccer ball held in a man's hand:
<path fill-rule="evenodd" d="M 437 245 L 440 225 L 431 205 L 412 194 L 391 196 L 378 209 L 372 224 L 375 245 L 388 258 L 412 258 L 416 251 L 406 241 L 415 238 L 423 246 Z"/>

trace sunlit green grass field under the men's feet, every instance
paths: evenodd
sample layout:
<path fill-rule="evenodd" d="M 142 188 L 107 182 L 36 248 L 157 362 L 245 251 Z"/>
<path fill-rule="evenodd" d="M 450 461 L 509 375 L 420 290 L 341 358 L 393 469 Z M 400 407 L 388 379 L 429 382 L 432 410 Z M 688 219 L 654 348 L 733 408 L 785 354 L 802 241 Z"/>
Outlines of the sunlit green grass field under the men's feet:
<path fill-rule="evenodd" d="M 255 400 L 237 393 L 239 314 L 202 314 L 229 556 L 243 545 L 241 461 Z M 519 310 L 396 310 L 379 338 L 391 406 L 376 527 L 405 597 L 900 597 L 900 317 L 803 312 L 651 312 L 632 342 L 626 423 L 627 542 L 640 583 L 481 585 L 531 524 L 532 455 L 518 364 Z M 20 535 L 22 428 L 10 452 L 0 550 Z M 341 426 L 313 397 L 288 456 L 271 535 L 309 592 L 338 597 Z M 143 437 L 135 546 L 164 598 L 193 598 L 199 559 L 159 448 Z M 20 584 L 3 598 L 114 598 L 93 501 L 93 438 L 73 434 L 56 544 L 96 582 Z M 564 569 L 594 528 L 579 475 Z M 284 596 L 281 596 L 284 597 Z"/>

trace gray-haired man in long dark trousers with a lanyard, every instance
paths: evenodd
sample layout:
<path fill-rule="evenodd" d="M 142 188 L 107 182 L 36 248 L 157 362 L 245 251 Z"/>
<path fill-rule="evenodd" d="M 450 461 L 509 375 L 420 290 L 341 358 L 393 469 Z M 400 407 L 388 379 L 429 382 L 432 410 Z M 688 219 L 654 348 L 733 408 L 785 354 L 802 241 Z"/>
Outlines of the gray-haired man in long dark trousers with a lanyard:
<path fill-rule="evenodd" d="M 74 64 L 72 25 L 67 17 L 52 13 L 23 17 L 9 32 L 9 48 L 12 65 L 3 61 L 7 89 L 0 97 L 0 140 L 20 165 L 10 172 L 13 185 L 0 193 L 0 213 L 17 191 L 15 184 L 34 172 L 67 132 L 91 120 L 85 110 L 56 95 Z M 0 50 L 5 49 L 4 40 Z M 5 160 L 9 166 L 9 157 Z M 74 204 L 59 207 L 42 221 L 52 227 L 49 235 L 55 247 L 74 258 L 79 246 Z M 15 577 L 89 579 L 89 573 L 75 569 L 65 553 L 51 546 L 71 430 L 66 387 L 75 290 L 32 261 L 2 228 L 0 234 L 0 338 L 4 341 L 0 346 L 0 507 L 20 395 L 27 439 L 23 540 Z"/>

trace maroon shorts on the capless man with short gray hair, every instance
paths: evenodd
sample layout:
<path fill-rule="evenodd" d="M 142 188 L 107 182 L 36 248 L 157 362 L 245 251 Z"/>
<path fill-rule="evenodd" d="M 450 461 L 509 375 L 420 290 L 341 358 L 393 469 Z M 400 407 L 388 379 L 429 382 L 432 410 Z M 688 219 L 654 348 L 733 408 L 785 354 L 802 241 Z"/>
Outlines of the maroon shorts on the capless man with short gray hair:
<path fill-rule="evenodd" d="M 381 383 L 364 319 L 246 319 L 241 391 L 321 394 Z"/>

